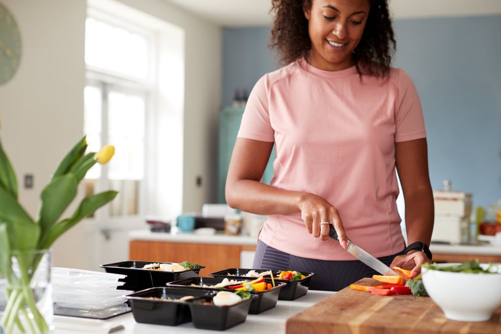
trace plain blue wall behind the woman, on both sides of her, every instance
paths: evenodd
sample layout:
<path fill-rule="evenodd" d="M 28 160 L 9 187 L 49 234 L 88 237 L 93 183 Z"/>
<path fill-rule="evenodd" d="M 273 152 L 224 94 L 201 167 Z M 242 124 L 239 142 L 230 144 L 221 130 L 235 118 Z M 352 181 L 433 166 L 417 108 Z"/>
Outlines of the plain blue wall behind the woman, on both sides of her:
<path fill-rule="evenodd" d="M 423 105 L 431 185 L 501 199 L 501 16 L 395 20 L 394 66 L 411 76 Z M 268 27 L 223 31 L 222 104 L 278 68 Z"/>

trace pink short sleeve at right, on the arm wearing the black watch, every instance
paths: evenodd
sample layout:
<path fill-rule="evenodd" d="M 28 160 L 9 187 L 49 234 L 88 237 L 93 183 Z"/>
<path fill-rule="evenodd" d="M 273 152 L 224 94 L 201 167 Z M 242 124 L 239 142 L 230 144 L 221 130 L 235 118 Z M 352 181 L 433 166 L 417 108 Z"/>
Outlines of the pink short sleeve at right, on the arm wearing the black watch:
<path fill-rule="evenodd" d="M 403 142 L 426 137 L 423 110 L 416 87 L 405 71 L 399 69 L 398 101 L 395 115 L 395 142 Z"/>

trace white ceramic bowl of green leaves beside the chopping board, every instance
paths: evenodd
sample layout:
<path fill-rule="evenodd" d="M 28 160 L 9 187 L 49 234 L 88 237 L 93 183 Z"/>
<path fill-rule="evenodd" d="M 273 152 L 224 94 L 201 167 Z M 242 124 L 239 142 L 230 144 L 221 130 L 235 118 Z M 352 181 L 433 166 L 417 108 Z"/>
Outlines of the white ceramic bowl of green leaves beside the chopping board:
<path fill-rule="evenodd" d="M 447 266 L 458 263 L 439 263 Z M 488 264 L 480 263 L 482 268 Z M 445 317 L 460 321 L 486 321 L 501 306 L 501 265 L 497 273 L 465 273 L 422 267 L 424 287 Z"/>

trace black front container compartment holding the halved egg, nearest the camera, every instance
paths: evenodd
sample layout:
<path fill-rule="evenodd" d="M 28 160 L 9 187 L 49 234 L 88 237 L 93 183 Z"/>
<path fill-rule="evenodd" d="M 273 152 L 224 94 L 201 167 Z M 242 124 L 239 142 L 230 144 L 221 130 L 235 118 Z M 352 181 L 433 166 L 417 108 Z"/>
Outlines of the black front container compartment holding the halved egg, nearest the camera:
<path fill-rule="evenodd" d="M 197 290 L 191 288 L 191 290 Z M 217 293 L 217 291 L 215 291 Z M 191 321 L 193 326 L 200 329 L 224 330 L 247 318 L 250 303 L 258 298 L 256 294 L 239 303 L 229 306 L 216 306 L 214 304 L 204 304 L 201 300 L 194 300 L 189 304 L 191 310 Z"/>

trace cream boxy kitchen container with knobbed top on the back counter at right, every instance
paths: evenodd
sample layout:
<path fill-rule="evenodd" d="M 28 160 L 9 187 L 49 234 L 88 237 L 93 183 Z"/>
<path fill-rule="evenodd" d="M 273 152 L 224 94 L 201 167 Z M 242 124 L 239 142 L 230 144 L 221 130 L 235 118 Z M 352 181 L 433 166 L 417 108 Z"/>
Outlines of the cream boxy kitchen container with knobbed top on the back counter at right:
<path fill-rule="evenodd" d="M 431 242 L 469 243 L 472 195 L 451 190 L 451 181 L 443 181 L 444 189 L 433 192 L 435 221 Z"/>

